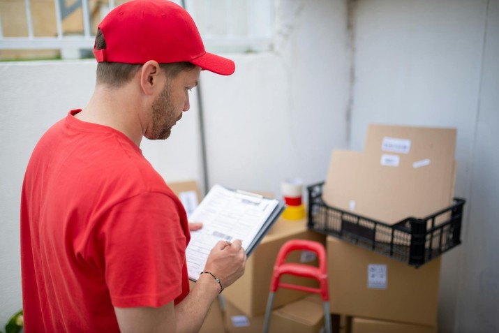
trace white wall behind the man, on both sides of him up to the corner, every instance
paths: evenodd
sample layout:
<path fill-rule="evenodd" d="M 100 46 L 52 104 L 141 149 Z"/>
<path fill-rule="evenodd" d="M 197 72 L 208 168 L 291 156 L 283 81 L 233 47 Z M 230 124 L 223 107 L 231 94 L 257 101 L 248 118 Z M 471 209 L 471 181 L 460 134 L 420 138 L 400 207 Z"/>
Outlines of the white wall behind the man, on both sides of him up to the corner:
<path fill-rule="evenodd" d="M 277 0 L 274 52 L 232 54 L 230 77 L 203 72 L 209 185 L 280 195 L 283 177 L 325 178 L 333 147 L 346 147 L 345 6 L 340 0 Z M 321 23 L 322 22 L 322 23 Z M 20 191 L 40 136 L 68 110 L 84 108 L 94 61 L 0 63 L 0 325 L 21 308 Z M 202 186 L 198 104 L 165 142 L 142 151 L 169 181 Z"/>

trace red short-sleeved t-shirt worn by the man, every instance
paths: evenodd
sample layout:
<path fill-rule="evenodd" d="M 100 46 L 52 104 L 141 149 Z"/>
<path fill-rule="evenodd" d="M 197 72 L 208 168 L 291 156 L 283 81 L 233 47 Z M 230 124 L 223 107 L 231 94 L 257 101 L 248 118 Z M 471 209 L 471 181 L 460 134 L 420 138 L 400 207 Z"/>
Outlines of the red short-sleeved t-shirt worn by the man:
<path fill-rule="evenodd" d="M 113 306 L 188 294 L 186 212 L 123 133 L 71 111 L 33 151 L 22 187 L 24 331 L 119 332 Z"/>

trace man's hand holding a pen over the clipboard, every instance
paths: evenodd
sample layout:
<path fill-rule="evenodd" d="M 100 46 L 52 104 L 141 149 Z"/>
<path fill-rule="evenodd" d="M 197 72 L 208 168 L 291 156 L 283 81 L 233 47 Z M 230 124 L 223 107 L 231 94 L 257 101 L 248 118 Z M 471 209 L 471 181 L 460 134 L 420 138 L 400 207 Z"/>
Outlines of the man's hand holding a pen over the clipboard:
<path fill-rule="evenodd" d="M 204 266 L 206 272 L 214 274 L 222 283 L 223 288 L 230 286 L 244 274 L 246 251 L 241 247 L 241 241 L 219 241 L 211 252 Z"/>

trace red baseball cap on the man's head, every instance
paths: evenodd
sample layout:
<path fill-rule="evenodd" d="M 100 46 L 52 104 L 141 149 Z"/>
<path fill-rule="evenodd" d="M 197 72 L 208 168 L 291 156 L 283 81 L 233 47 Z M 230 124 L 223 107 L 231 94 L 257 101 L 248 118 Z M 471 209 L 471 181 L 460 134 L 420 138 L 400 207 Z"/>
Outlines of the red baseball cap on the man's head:
<path fill-rule="evenodd" d="M 234 73 L 234 61 L 204 50 L 193 18 L 167 0 L 132 0 L 110 11 L 100 22 L 106 48 L 96 50 L 97 62 L 160 64 L 188 61 L 221 74 Z"/>

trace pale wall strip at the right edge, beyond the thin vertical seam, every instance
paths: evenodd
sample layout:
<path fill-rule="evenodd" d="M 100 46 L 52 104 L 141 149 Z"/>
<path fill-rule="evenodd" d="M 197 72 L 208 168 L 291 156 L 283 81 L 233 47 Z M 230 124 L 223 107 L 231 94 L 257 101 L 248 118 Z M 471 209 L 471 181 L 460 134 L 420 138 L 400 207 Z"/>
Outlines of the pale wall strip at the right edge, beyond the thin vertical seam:
<path fill-rule="evenodd" d="M 491 0 L 472 154 L 456 332 L 499 332 L 499 0 Z"/>

